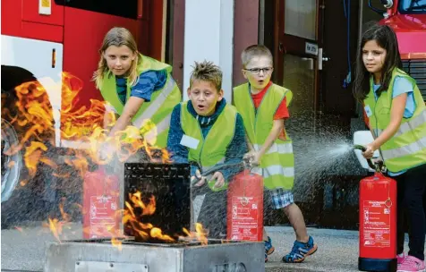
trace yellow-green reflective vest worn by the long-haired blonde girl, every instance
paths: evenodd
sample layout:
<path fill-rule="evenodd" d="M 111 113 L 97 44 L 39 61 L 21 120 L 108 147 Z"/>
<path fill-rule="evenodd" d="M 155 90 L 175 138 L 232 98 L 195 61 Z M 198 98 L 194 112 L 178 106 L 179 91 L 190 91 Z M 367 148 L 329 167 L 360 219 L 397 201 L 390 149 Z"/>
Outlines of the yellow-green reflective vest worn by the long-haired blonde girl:
<path fill-rule="evenodd" d="M 167 134 L 170 124 L 170 117 L 173 108 L 181 101 L 181 92 L 177 84 L 170 76 L 171 66 L 163 64 L 157 60 L 140 55 L 141 64 L 138 66 L 138 72 L 141 74 L 147 71 L 167 71 L 167 79 L 164 87 L 153 92 L 151 100 L 144 102 L 136 115 L 132 118 L 132 124 L 141 129 L 141 134 L 151 145 L 159 148 L 166 148 Z M 127 84 L 127 98 L 130 97 L 131 87 Z M 114 90 L 114 91 L 112 91 Z M 124 105 L 118 98 L 115 86 L 115 76 L 106 73 L 100 91 L 103 98 L 114 106 L 116 113 L 123 113 Z M 157 127 L 154 127 L 157 126 Z"/>

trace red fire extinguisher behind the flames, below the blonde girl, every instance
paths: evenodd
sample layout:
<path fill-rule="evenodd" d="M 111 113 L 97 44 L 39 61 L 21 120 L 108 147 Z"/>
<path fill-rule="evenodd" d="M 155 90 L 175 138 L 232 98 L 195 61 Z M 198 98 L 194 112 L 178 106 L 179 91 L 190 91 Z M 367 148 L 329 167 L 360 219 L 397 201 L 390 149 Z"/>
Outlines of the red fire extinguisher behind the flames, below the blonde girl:
<path fill-rule="evenodd" d="M 88 172 L 83 181 L 83 237 L 109 238 L 118 235 L 120 186 L 118 176 L 104 167 Z"/>

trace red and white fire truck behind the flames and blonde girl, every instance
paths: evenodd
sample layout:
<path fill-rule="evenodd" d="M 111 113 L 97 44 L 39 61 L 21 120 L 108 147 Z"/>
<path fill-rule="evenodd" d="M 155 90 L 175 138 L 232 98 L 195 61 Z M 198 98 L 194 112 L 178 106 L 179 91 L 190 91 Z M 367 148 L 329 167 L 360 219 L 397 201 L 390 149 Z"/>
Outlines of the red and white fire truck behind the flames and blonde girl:
<path fill-rule="evenodd" d="M 17 100 L 15 87 L 28 81 L 38 81 L 45 86 L 55 120 L 55 135 L 50 136 L 55 138 L 54 148 L 72 148 L 70 142 L 65 145 L 59 133 L 61 89 L 50 87 L 51 81 L 61 82 L 62 72 L 79 78 L 83 87 L 76 99 L 77 107 L 89 106 L 89 99 L 100 99 L 91 77 L 98 65 L 98 48 L 106 31 L 115 26 L 127 28 L 142 53 L 158 57 L 149 46 L 153 39 L 155 43 L 158 36 L 162 38 L 162 34 L 154 37 L 152 33 L 158 32 L 158 24 L 162 27 L 164 3 L 149 0 L 1 1 L 2 225 L 4 209 L 15 205 L 11 203 L 15 202 L 13 194 L 20 187 L 25 169 L 22 152 L 4 152 L 25 133 L 11 120 Z"/>

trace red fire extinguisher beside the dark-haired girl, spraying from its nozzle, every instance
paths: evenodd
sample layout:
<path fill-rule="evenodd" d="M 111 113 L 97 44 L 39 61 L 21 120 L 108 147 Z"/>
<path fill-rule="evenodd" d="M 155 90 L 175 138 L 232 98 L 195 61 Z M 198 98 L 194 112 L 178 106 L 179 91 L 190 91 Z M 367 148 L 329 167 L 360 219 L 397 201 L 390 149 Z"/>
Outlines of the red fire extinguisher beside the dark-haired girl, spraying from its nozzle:
<path fill-rule="evenodd" d="M 365 150 L 355 146 L 355 149 Z M 360 255 L 361 271 L 396 271 L 396 181 L 381 173 L 381 166 L 369 166 L 374 175 L 360 182 Z"/>

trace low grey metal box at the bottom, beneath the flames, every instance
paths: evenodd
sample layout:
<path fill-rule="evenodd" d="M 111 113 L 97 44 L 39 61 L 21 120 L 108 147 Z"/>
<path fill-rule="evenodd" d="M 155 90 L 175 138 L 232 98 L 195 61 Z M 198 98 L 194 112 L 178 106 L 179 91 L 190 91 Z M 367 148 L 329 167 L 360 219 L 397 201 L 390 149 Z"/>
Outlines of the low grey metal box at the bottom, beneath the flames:
<path fill-rule="evenodd" d="M 208 245 L 123 242 L 51 242 L 45 272 L 262 272 L 263 242 L 209 241 Z"/>

